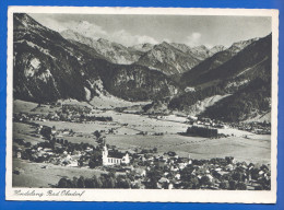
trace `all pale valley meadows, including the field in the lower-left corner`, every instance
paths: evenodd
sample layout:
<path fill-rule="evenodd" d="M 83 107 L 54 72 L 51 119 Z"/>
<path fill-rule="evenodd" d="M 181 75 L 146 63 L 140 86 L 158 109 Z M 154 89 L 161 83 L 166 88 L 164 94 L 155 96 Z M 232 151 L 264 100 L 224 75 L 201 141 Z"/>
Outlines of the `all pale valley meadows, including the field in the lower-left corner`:
<path fill-rule="evenodd" d="M 36 104 L 21 102 L 21 106 L 15 107 L 15 109 L 20 112 L 23 108 L 28 113 L 31 108 L 35 107 Z M 48 106 L 40 108 L 44 108 L 44 113 L 50 112 Z M 182 117 L 157 116 L 153 118 L 147 115 L 99 109 L 94 109 L 93 113 L 96 116 L 113 117 L 114 121 L 80 124 L 47 120 L 34 122 L 49 127 L 55 126 L 57 130 L 72 129 L 75 132 L 73 136 L 62 135 L 58 137 L 71 142 L 96 144 L 95 138 L 92 135 L 95 130 L 107 131 L 114 129 L 114 133 L 106 132 L 103 136 L 106 137 L 106 143 L 116 145 L 121 151 L 133 152 L 135 149 L 157 148 L 159 154 L 175 151 L 180 156 L 190 155 L 192 159 L 234 156 L 237 161 L 270 164 L 270 136 L 253 135 L 236 129 L 221 129 L 220 132 L 229 135 L 230 137 L 221 139 L 186 137 L 179 135 L 179 132 L 185 132 L 188 128 L 188 125 L 185 122 L 186 118 Z M 44 141 L 34 131 L 35 128 L 27 124 L 13 124 L 13 138 L 21 138 L 33 144 Z M 31 163 L 17 159 L 13 160 L 13 170 L 20 171 L 20 175 L 13 174 L 13 186 L 17 187 L 50 187 L 50 185 L 56 185 L 64 176 L 70 178 L 80 175 L 91 177 L 94 174 L 102 173 L 97 170 Z"/>

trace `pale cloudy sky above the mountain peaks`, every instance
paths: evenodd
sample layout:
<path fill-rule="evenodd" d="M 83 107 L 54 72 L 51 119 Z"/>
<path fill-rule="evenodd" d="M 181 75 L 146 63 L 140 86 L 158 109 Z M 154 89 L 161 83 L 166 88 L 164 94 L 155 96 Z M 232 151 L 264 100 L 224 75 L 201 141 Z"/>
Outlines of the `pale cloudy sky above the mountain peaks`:
<path fill-rule="evenodd" d="M 162 42 L 213 47 L 263 37 L 271 33 L 271 18 L 216 15 L 141 14 L 39 14 L 29 13 L 40 24 L 62 32 L 105 38 L 125 46 Z"/>

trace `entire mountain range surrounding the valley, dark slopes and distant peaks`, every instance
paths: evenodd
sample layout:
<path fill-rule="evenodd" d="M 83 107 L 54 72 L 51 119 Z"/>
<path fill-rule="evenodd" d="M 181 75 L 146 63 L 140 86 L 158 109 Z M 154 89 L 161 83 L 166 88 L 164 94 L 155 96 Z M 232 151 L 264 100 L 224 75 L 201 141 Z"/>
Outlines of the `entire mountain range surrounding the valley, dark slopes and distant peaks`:
<path fill-rule="evenodd" d="M 74 31 L 51 31 L 24 13 L 13 21 L 13 95 L 32 102 L 92 101 L 110 94 L 152 101 L 145 112 L 239 121 L 270 112 L 272 35 L 224 46 L 126 47 Z"/>

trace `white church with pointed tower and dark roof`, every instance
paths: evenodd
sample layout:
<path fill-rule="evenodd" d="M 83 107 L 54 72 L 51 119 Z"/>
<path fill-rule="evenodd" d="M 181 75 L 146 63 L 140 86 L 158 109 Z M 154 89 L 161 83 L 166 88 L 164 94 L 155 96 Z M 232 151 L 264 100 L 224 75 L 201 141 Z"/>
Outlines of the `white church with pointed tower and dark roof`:
<path fill-rule="evenodd" d="M 129 164 L 130 158 L 128 153 L 118 151 L 108 151 L 107 145 L 103 148 L 103 165 L 120 165 L 121 163 Z"/>

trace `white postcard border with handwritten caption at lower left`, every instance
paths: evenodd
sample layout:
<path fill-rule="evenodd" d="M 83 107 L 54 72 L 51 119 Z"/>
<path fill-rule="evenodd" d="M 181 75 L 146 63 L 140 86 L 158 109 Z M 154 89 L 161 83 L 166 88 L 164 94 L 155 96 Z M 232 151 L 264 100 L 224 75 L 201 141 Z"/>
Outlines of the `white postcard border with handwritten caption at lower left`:
<path fill-rule="evenodd" d="M 272 136 L 271 136 L 271 190 L 182 190 L 182 189 L 70 189 L 83 192 L 76 196 L 46 196 L 57 188 L 12 188 L 12 110 L 13 110 L 13 13 L 84 13 L 84 14 L 166 14 L 166 15 L 241 15 L 272 18 Z M 276 202 L 277 152 L 277 82 L 279 82 L 279 11 L 260 9 L 185 9 L 185 8 L 88 8 L 88 7 L 9 7 L 8 10 L 8 78 L 7 78 L 7 200 L 57 201 L 157 201 L 157 202 Z M 15 196 L 14 190 L 35 190 L 43 197 Z M 68 189 L 67 189 L 68 190 Z"/>

